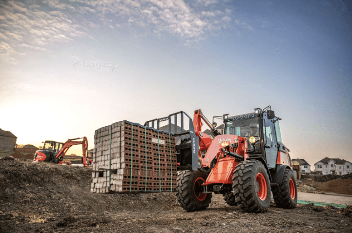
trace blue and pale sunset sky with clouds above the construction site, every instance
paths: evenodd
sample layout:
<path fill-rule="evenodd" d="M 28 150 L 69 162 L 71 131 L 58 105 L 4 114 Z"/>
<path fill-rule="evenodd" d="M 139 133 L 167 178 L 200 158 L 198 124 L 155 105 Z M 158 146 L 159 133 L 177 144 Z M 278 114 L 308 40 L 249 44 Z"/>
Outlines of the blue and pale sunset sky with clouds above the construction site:
<path fill-rule="evenodd" d="M 291 158 L 352 162 L 351 38 L 351 0 L 0 0 L 0 128 L 92 149 L 124 119 L 270 105 Z"/>

